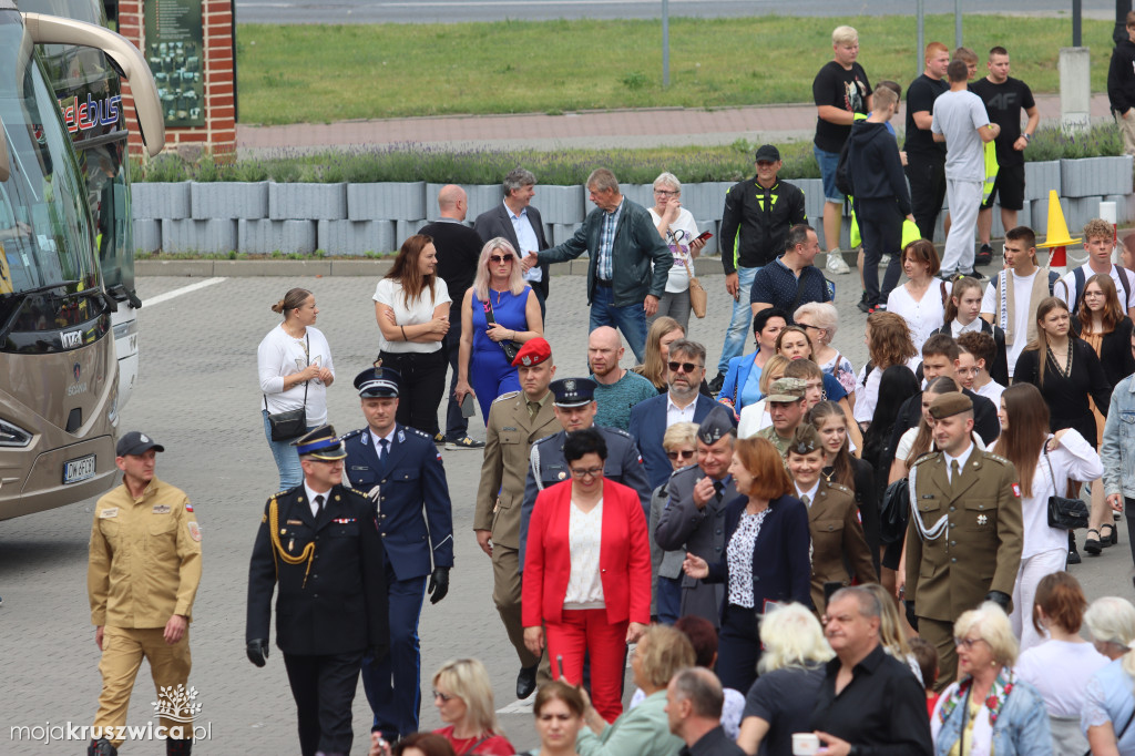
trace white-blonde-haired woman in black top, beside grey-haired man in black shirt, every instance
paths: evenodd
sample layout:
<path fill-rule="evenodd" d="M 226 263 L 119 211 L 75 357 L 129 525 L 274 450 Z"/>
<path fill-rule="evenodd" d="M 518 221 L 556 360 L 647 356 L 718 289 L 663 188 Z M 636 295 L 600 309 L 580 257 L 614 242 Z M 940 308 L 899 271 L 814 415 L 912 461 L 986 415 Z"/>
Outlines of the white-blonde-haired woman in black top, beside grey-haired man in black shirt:
<path fill-rule="evenodd" d="M 812 731 L 824 663 L 835 654 L 816 615 L 794 603 L 765 614 L 760 642 L 765 647 L 757 665 L 760 677 L 745 698 L 737 745 L 749 756 L 758 749 L 791 754 L 792 733 Z"/>

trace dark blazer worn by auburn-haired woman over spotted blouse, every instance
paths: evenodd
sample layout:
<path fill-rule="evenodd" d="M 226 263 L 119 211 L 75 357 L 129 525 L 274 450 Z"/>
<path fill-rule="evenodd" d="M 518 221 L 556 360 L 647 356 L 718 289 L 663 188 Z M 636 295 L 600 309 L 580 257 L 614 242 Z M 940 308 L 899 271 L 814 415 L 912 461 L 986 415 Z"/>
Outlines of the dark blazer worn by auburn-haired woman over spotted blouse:
<path fill-rule="evenodd" d="M 741 513 L 749 503 L 748 496 L 738 496 L 725 509 L 725 551 L 733 538 Z M 781 496 L 768 502 L 768 514 L 760 526 L 753 547 L 754 610 L 764 612 L 766 600 L 798 602 L 812 605 L 812 531 L 808 530 L 808 507 L 793 496 Z M 709 562 L 706 582 L 729 586 L 729 558 Z M 729 603 L 729 591 L 722 611 Z"/>

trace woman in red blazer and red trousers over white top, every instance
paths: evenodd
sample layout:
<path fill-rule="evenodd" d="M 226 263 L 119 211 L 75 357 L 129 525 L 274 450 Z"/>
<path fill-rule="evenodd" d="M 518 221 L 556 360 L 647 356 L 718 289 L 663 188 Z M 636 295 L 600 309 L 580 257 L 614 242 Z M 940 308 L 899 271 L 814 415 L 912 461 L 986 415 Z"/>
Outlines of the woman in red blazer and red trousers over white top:
<path fill-rule="evenodd" d="M 579 684 L 590 654 L 591 704 L 613 722 L 623 711 L 627 645 L 650 622 L 650 545 L 638 494 L 604 479 L 606 457 L 595 428 L 568 434 L 572 479 L 536 497 L 521 612 L 533 654 L 546 628 L 554 678 Z"/>

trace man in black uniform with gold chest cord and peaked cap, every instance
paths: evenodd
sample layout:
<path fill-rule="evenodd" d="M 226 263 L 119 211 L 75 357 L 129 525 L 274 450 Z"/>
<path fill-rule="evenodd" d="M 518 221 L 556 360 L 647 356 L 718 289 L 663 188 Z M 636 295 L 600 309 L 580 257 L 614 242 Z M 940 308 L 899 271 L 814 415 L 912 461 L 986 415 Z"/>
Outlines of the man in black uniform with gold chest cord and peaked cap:
<path fill-rule="evenodd" d="M 343 485 L 343 440 L 322 426 L 294 443 L 303 482 L 268 499 L 249 566 L 249 661 L 276 645 L 300 720 L 300 751 L 351 753 L 351 705 L 363 655 L 385 656 L 386 571 L 375 505 Z"/>

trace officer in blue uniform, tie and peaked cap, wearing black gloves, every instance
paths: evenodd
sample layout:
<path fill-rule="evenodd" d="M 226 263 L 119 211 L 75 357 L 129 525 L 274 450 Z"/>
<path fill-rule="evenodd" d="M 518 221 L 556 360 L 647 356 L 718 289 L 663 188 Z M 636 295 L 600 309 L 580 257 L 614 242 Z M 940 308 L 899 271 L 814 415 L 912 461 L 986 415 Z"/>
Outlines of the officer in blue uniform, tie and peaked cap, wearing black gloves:
<path fill-rule="evenodd" d="M 442 455 L 430 436 L 395 421 L 400 381 L 390 368 L 355 376 L 367 427 L 343 437 L 347 478 L 377 506 L 385 546 L 390 653 L 363 663 L 362 682 L 373 729 L 389 742 L 418 731 L 418 620 L 427 578 L 430 603 L 437 604 L 449 590 L 453 566 L 453 512 Z"/>

